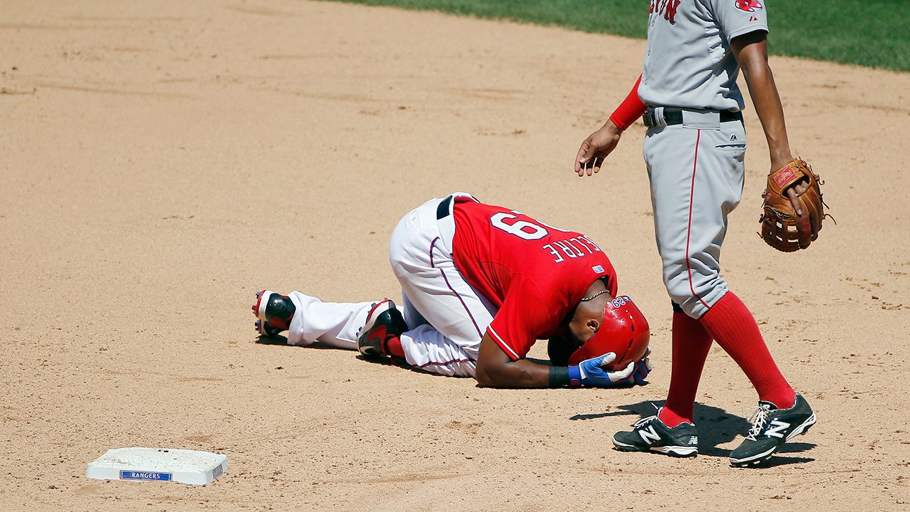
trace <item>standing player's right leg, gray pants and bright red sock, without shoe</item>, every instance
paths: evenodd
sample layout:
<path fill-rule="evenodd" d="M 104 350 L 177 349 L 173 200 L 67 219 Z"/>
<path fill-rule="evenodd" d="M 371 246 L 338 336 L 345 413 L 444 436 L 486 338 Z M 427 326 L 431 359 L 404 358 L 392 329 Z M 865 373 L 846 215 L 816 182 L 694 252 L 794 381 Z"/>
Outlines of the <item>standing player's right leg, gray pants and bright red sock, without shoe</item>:
<path fill-rule="evenodd" d="M 673 301 L 699 319 L 704 330 L 739 364 L 761 400 L 790 407 L 794 404 L 793 388 L 774 364 L 752 313 L 729 292 L 720 276 L 727 216 L 739 204 L 743 191 L 743 125 L 731 121 L 720 123 L 716 129 L 668 129 L 674 133 L 672 140 L 666 141 L 682 153 L 674 161 L 686 165 L 666 165 L 660 160 L 665 156 L 652 156 L 658 159 L 652 165 L 652 194 L 660 210 L 655 211 L 654 218 L 667 290 Z M 694 143 L 689 142 L 692 139 Z M 684 158 L 686 153 L 688 158 Z M 671 187 L 682 185 L 682 194 L 667 186 L 667 181 L 673 181 L 669 173 L 676 181 Z M 682 212 L 673 207 L 662 210 L 672 200 L 682 203 Z M 698 376 L 693 375 L 693 380 L 697 382 Z"/>

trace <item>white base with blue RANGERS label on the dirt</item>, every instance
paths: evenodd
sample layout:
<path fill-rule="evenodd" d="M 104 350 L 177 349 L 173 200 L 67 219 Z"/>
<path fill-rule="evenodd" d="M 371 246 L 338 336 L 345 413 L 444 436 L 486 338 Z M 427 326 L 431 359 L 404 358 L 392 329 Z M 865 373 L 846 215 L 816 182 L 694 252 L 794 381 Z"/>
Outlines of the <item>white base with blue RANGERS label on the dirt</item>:
<path fill-rule="evenodd" d="M 227 473 L 227 456 L 169 448 L 115 448 L 86 468 L 86 477 L 99 480 L 211 484 Z"/>

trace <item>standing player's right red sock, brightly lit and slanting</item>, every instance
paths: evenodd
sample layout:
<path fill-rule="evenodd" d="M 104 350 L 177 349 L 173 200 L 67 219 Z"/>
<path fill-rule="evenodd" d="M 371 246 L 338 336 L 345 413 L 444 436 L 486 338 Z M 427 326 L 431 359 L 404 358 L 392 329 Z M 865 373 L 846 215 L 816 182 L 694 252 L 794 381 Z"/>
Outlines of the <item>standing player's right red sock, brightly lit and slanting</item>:
<path fill-rule="evenodd" d="M 749 377 L 760 400 L 782 409 L 793 407 L 796 392 L 777 369 L 758 324 L 739 297 L 726 292 L 702 315 L 701 321 L 705 330 Z"/>

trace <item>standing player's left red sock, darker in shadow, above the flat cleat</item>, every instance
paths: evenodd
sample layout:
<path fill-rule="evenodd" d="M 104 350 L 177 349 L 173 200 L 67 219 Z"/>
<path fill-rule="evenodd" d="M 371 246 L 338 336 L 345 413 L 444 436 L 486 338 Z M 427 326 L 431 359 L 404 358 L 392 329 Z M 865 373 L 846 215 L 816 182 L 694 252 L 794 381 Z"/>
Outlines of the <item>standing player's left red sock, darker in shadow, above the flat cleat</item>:
<path fill-rule="evenodd" d="M 672 428 L 683 422 L 695 423 L 692 409 L 711 342 L 711 334 L 702 323 L 684 312 L 673 312 L 670 391 L 657 415 L 664 425 Z"/>

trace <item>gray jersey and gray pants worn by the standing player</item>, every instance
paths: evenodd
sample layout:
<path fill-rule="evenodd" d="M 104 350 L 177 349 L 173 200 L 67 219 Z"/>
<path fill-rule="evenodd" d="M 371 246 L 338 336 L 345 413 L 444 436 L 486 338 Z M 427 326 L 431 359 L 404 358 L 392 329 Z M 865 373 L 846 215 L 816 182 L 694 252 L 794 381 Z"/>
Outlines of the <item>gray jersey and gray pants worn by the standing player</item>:
<path fill-rule="evenodd" d="M 768 30 L 755 0 L 652 0 L 639 97 L 663 282 L 699 318 L 727 292 L 727 215 L 743 193 L 745 131 L 730 41 Z"/>

